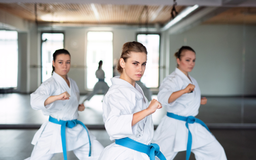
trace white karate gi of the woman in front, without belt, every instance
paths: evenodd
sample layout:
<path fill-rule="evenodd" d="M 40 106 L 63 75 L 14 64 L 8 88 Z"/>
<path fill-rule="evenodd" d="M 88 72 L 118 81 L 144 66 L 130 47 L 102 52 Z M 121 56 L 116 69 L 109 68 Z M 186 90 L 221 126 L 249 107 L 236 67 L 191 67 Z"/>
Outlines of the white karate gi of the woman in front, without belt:
<path fill-rule="evenodd" d="M 103 120 L 110 140 L 129 137 L 137 142 L 149 145 L 154 126 L 151 115 L 131 126 L 133 114 L 147 109 L 142 89 L 118 77 L 111 78 L 112 86 L 103 99 Z M 156 157 L 156 160 L 158 158 Z M 147 154 L 112 143 L 101 153 L 99 160 L 149 160 Z"/>

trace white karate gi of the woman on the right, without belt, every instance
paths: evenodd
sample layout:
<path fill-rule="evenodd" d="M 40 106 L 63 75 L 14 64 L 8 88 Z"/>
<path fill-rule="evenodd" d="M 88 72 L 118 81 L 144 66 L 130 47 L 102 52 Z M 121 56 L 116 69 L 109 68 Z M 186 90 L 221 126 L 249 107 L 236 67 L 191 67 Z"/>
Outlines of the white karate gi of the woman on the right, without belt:
<path fill-rule="evenodd" d="M 192 81 L 190 81 L 189 80 Z M 201 103 L 201 91 L 196 80 L 189 78 L 180 69 L 175 69 L 160 85 L 157 98 L 167 112 L 180 116 L 196 116 Z M 183 94 L 172 103 L 168 99 L 175 91 L 185 89 L 192 83 L 195 89 L 192 93 Z M 160 146 L 160 151 L 167 160 L 172 160 L 178 151 L 186 151 L 188 129 L 185 121 L 176 120 L 165 115 L 154 134 L 154 143 Z M 223 147 L 215 137 L 201 124 L 189 124 L 192 134 L 192 152 L 197 160 L 227 160 Z"/>

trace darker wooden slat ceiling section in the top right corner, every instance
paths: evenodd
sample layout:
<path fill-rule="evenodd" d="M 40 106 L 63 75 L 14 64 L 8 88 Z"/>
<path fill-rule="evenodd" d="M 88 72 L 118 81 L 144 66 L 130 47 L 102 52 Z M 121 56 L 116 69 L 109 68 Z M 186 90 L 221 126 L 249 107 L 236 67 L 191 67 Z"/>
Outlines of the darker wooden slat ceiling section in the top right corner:
<path fill-rule="evenodd" d="M 256 8 L 231 8 L 210 18 L 204 24 L 256 24 Z"/>

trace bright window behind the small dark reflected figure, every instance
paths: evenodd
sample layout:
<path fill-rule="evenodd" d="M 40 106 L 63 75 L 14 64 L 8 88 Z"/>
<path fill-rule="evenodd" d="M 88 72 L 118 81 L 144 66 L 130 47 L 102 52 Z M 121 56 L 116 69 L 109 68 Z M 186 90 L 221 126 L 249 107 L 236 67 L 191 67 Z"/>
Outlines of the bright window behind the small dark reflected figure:
<path fill-rule="evenodd" d="M 103 61 L 102 70 L 105 72 L 105 82 L 111 86 L 113 77 L 113 33 L 111 31 L 89 31 L 87 33 L 87 89 L 93 89 L 98 82 L 95 72 L 99 61 Z"/>

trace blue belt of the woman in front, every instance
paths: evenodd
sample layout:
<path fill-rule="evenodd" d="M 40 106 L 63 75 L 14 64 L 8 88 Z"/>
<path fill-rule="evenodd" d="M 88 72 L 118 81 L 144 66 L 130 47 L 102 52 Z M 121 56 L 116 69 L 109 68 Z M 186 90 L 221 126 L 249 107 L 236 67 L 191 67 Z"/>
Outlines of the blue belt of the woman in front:
<path fill-rule="evenodd" d="M 160 160 L 166 160 L 162 152 L 160 152 L 159 146 L 155 143 L 145 145 L 143 143 L 137 142 L 135 140 L 132 140 L 131 138 L 126 137 L 116 140 L 116 144 L 127 147 L 129 149 L 133 149 L 135 151 L 148 154 L 150 160 L 155 160 L 155 156 L 157 156 Z"/>

